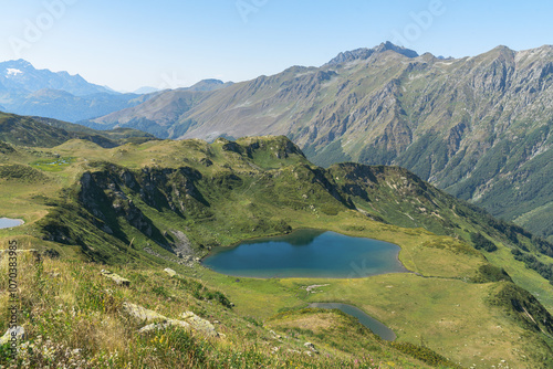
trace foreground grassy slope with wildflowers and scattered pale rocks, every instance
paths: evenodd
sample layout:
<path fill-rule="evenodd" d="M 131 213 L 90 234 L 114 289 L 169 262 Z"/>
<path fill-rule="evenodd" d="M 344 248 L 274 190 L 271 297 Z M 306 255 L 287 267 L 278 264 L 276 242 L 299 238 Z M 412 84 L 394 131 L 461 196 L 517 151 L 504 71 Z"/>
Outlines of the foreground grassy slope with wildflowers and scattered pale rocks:
<path fill-rule="evenodd" d="M 303 346 L 312 338 L 311 333 L 278 339 L 260 321 L 242 317 L 216 299 L 206 301 L 216 291 L 201 281 L 171 278 L 160 270 L 113 268 L 131 280 L 132 285 L 126 288 L 102 277 L 98 264 L 50 259 L 35 263 L 27 255 L 19 257 L 19 264 L 20 308 L 28 334 L 23 342 L 27 349 L 19 356 L 21 367 L 359 368 L 361 363 L 362 368 L 376 368 L 379 362 L 382 368 L 431 367 L 336 313 L 325 313 L 334 319 L 333 331 L 353 335 L 355 342 L 334 336 L 333 345 L 317 347 L 320 355 L 312 358 L 305 355 Z M 7 273 L 6 259 L 0 262 L 0 270 Z M 1 287 L 7 287 L 4 280 Z M 185 310 L 191 310 L 213 321 L 220 337 L 205 338 L 179 328 L 138 334 L 144 324 L 122 314 L 123 302 L 176 319 Z M 2 294 L 1 304 L 7 303 Z M 307 317 L 312 314 L 320 313 L 304 312 Z M 3 330 L 6 309 L 1 316 Z M 3 352 L 0 350 L 2 365 Z M 437 356 L 417 357 L 428 360 Z"/>

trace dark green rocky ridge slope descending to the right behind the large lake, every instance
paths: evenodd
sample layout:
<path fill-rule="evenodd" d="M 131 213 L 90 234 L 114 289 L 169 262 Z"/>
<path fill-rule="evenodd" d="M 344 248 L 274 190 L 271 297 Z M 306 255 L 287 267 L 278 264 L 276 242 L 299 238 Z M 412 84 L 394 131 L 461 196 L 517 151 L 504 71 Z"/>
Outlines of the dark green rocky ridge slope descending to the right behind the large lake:
<path fill-rule="evenodd" d="M 469 243 L 471 233 L 488 234 L 499 250 L 486 252 L 486 257 L 503 267 L 514 282 L 539 296 L 550 312 L 553 310 L 552 284 L 523 262 L 514 260 L 511 254 L 512 250 L 535 247 L 532 240 L 523 234 L 523 230 L 498 222 L 405 169 L 368 168 L 348 164 L 333 166 L 330 170 L 332 177 L 337 178 L 336 182 L 353 197 L 356 207 L 374 219 L 401 226 L 422 226 L 434 233 L 451 235 Z M 363 188 L 369 190 L 364 191 Z M 540 257 L 545 264 L 552 264 L 551 257 Z"/>

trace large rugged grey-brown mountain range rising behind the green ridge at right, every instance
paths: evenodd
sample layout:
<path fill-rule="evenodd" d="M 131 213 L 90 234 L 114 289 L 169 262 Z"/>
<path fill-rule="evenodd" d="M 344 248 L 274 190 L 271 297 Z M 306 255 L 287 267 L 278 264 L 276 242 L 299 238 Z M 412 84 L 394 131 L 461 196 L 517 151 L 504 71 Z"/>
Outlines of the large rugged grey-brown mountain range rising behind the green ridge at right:
<path fill-rule="evenodd" d="M 444 59 L 383 43 L 84 122 L 161 138 L 285 135 L 320 165 L 398 165 L 553 238 L 553 46 Z"/>

